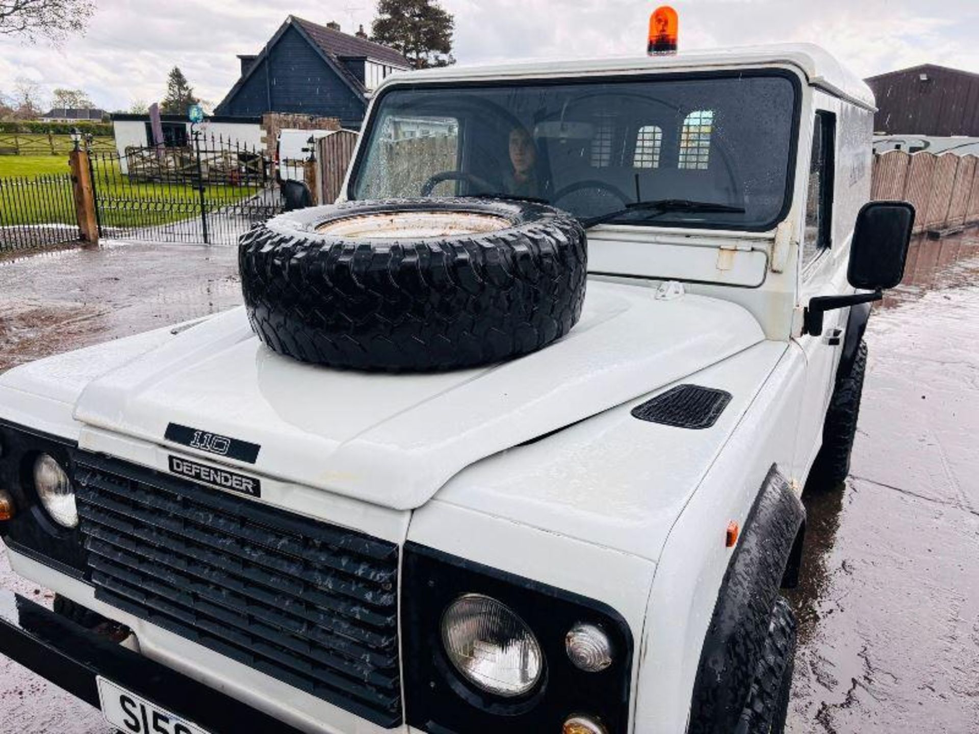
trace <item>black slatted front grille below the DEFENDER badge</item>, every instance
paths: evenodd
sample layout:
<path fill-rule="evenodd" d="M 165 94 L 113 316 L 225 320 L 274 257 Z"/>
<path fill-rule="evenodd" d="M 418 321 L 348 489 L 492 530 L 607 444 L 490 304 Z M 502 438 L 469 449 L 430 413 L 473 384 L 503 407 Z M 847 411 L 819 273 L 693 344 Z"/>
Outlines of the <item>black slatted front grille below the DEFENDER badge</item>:
<path fill-rule="evenodd" d="M 76 466 L 97 599 L 400 723 L 396 544 L 116 460 Z"/>

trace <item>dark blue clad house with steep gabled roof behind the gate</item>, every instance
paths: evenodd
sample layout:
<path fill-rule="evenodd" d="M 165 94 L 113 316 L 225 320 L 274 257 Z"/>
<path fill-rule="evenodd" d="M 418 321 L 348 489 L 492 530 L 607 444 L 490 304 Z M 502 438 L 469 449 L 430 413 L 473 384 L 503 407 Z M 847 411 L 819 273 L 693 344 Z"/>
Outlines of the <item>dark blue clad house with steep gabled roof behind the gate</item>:
<path fill-rule="evenodd" d="M 363 26 L 350 35 L 339 23 L 320 25 L 295 16 L 282 23 L 259 53 L 238 59 L 241 78 L 215 115 L 339 117 L 344 127 L 354 129 L 381 80 L 410 69 L 395 49 L 368 40 Z"/>

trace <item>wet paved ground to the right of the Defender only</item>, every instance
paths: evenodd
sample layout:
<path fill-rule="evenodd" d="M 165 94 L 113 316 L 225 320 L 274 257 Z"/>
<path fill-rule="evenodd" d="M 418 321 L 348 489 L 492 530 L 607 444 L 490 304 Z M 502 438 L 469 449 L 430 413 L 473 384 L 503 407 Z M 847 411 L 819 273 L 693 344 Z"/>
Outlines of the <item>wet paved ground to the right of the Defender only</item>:
<path fill-rule="evenodd" d="M 979 732 L 979 234 L 875 309 L 845 486 L 807 486 L 793 734 Z"/>

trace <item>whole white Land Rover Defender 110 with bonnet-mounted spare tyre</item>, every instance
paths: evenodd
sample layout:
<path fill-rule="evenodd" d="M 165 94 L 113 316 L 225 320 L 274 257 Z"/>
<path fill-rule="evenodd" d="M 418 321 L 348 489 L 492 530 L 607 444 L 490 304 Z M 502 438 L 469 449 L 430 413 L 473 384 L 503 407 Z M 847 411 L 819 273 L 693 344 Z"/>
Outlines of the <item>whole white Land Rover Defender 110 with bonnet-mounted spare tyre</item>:
<path fill-rule="evenodd" d="M 391 77 L 244 307 L 0 378 L 58 594 L 0 652 L 139 734 L 781 731 L 913 219 L 873 109 L 812 46 Z"/>

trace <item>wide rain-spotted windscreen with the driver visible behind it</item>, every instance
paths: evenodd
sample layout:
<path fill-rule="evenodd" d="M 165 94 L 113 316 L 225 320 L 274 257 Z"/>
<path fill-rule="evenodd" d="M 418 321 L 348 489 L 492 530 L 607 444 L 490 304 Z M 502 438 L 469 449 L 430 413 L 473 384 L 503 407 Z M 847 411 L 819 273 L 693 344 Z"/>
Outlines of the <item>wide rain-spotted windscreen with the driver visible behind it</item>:
<path fill-rule="evenodd" d="M 349 194 L 497 194 L 585 220 L 767 228 L 788 195 L 795 94 L 776 72 L 394 87 Z"/>

